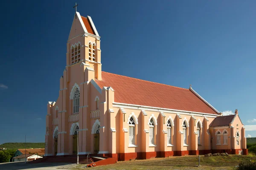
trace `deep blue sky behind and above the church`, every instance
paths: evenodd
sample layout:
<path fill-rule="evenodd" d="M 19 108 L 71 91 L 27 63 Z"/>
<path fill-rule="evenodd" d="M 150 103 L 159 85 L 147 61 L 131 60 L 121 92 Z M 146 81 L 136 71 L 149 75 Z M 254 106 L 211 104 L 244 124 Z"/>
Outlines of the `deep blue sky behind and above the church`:
<path fill-rule="evenodd" d="M 237 108 L 256 137 L 255 1 L 82 1 L 101 36 L 102 70 L 192 88 L 218 111 Z M 73 0 L 1 4 L 0 144 L 44 142 L 58 98 Z M 225 112 L 230 113 L 230 112 Z"/>

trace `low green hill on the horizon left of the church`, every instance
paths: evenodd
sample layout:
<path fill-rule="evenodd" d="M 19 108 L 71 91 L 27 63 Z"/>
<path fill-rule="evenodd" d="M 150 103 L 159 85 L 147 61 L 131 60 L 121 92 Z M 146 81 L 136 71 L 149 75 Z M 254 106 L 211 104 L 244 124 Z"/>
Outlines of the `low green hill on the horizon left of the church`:
<path fill-rule="evenodd" d="M 25 143 L 4 143 L 4 144 L 0 144 L 0 147 L 7 148 L 7 150 L 25 149 Z M 44 142 L 26 143 L 26 148 L 44 148 Z"/>

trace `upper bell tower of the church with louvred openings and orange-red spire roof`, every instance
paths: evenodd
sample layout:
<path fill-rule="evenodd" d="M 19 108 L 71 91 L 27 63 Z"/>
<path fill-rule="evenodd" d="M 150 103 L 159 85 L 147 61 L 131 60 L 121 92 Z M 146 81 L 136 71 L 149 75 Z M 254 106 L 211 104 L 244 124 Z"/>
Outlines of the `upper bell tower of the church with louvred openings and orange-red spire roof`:
<path fill-rule="evenodd" d="M 93 68 L 95 78 L 101 80 L 102 65 L 98 31 L 90 16 L 83 17 L 76 11 L 67 40 L 67 66 L 81 64 L 81 62 Z"/>

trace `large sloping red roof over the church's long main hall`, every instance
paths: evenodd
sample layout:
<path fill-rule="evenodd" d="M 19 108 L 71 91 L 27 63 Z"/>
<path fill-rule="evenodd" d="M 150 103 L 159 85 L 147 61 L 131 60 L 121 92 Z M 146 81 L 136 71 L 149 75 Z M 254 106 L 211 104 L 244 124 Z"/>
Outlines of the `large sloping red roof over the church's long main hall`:
<path fill-rule="evenodd" d="M 104 71 L 102 71 L 102 80 L 96 79 L 95 81 L 100 88 L 111 86 L 114 89 L 115 102 L 217 114 L 189 89 Z"/>

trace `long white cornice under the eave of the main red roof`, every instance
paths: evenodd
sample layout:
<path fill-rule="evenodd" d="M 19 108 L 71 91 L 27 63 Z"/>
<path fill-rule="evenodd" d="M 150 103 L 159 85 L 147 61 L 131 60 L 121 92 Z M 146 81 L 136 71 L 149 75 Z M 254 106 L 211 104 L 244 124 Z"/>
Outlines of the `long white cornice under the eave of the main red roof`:
<path fill-rule="evenodd" d="M 119 103 L 113 102 L 114 108 L 127 108 L 127 109 L 134 109 L 134 110 L 143 110 L 143 111 L 155 111 L 155 112 L 164 112 L 164 113 L 174 113 L 174 114 L 182 114 L 182 115 L 193 115 L 193 116 L 204 116 L 204 117 L 211 117 L 215 118 L 217 114 L 210 114 L 210 113 L 201 113 L 201 112 L 193 112 L 193 111 L 182 111 L 182 110 L 175 110 L 175 109 L 168 109 L 168 108 L 157 108 L 151 106 L 143 106 L 143 105 L 133 105 L 133 104 L 126 104 L 126 103 Z"/>

